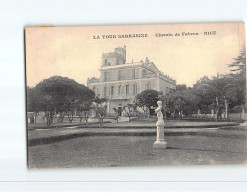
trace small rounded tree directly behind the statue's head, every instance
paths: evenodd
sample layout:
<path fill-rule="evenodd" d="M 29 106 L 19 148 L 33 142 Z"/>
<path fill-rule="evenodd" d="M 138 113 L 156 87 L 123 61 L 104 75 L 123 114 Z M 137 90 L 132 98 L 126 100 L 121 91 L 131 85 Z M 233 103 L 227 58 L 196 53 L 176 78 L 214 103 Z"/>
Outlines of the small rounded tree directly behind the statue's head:
<path fill-rule="evenodd" d="M 136 95 L 135 104 L 137 106 L 139 106 L 140 108 L 142 108 L 144 110 L 144 112 L 147 111 L 148 118 L 149 118 L 150 117 L 150 108 L 152 106 L 154 106 L 154 107 L 157 106 L 157 101 L 159 100 L 160 94 L 161 94 L 160 92 L 153 90 L 153 89 L 145 90 L 145 91 Z"/>

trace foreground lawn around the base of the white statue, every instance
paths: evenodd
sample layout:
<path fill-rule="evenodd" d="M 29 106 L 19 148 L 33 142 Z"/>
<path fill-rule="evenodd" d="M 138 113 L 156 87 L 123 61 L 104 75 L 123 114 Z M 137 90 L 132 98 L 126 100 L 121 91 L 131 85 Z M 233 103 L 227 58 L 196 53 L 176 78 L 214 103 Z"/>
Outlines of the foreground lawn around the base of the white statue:
<path fill-rule="evenodd" d="M 167 149 L 153 149 L 155 136 L 85 136 L 28 148 L 30 168 L 123 167 L 246 163 L 246 131 L 234 136 L 166 136 Z"/>

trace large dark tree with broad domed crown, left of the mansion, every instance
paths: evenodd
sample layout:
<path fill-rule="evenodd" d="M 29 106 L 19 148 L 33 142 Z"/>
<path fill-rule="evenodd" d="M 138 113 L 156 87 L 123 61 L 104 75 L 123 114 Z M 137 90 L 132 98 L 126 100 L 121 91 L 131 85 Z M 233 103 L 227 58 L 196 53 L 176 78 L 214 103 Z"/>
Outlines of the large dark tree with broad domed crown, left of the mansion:
<path fill-rule="evenodd" d="M 39 111 L 45 112 L 46 123 L 50 125 L 56 113 L 62 117 L 66 113 L 72 122 L 76 104 L 92 99 L 94 92 L 67 77 L 53 76 L 34 87 L 34 96 L 32 101 Z"/>

